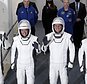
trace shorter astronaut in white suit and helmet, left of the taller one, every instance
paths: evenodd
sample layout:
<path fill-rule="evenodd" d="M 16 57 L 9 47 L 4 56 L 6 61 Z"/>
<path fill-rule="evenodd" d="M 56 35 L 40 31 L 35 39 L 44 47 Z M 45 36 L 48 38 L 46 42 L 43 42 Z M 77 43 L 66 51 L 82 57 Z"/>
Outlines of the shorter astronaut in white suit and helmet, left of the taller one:
<path fill-rule="evenodd" d="M 34 84 L 34 59 L 33 50 L 40 53 L 38 37 L 31 34 L 31 26 L 27 20 L 21 20 L 18 24 L 18 36 L 15 36 L 11 51 L 11 69 L 15 67 L 15 51 L 17 49 L 17 84 Z"/>

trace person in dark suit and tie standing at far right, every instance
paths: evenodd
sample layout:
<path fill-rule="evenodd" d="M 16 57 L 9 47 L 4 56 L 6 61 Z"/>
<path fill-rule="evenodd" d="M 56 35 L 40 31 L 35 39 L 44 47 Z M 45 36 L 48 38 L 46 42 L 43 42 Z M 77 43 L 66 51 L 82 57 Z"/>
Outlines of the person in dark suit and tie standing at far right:
<path fill-rule="evenodd" d="M 86 7 L 85 4 L 81 3 L 80 0 L 75 0 L 75 2 L 69 5 L 76 14 L 76 22 L 74 25 L 74 44 L 75 48 L 78 50 L 83 37 L 84 32 L 84 18 L 86 17 Z"/>

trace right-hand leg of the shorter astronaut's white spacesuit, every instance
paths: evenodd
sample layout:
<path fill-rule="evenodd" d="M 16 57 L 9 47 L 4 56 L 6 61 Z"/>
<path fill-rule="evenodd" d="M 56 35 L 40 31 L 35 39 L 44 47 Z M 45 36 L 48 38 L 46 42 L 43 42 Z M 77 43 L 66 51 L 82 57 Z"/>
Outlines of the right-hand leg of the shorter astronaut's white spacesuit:
<path fill-rule="evenodd" d="M 34 67 L 27 66 L 26 76 L 27 76 L 27 84 L 34 84 Z"/>

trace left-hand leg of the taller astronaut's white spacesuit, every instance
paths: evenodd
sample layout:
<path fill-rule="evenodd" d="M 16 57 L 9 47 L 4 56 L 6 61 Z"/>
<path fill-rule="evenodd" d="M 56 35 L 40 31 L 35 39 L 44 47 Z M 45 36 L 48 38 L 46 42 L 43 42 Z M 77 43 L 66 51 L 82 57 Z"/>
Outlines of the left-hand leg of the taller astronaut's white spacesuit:
<path fill-rule="evenodd" d="M 50 79 L 50 84 L 57 84 L 58 69 L 56 64 L 50 64 L 49 79 Z"/>

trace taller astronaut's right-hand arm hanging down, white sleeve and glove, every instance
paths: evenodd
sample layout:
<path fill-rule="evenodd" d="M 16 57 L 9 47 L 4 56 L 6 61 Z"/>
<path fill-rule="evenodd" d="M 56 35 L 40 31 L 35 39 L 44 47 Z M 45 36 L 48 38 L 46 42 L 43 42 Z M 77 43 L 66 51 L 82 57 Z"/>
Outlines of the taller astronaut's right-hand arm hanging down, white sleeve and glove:
<path fill-rule="evenodd" d="M 69 40 L 69 58 L 70 58 L 69 64 L 68 64 L 69 68 L 73 68 L 73 62 L 75 58 L 75 46 L 72 39 L 70 38 Z"/>

